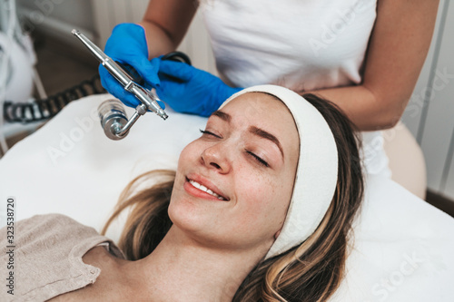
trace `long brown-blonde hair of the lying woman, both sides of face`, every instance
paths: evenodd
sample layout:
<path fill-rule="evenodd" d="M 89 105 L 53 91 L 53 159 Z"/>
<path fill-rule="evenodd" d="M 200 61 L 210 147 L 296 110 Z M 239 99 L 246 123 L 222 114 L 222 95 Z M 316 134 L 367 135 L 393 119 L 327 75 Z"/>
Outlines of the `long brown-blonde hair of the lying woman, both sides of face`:
<path fill-rule="evenodd" d="M 300 246 L 259 263 L 232 301 L 325 301 L 341 284 L 351 223 L 363 195 L 359 140 L 350 121 L 334 104 L 314 94 L 303 96 L 321 112 L 336 140 L 339 171 L 334 197 L 314 233 Z M 102 233 L 124 209 L 131 209 L 119 240 L 127 258 L 148 256 L 171 228 L 167 208 L 174 176 L 174 171 L 153 170 L 138 176 L 123 190 Z M 136 192 L 144 180 L 151 179 L 160 181 Z"/>

